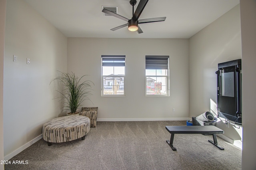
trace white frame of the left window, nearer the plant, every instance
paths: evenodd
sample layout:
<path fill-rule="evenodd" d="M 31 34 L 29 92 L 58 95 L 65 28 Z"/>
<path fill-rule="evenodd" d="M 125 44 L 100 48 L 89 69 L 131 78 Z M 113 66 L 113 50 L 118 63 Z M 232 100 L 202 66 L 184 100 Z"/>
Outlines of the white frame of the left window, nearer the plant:
<path fill-rule="evenodd" d="M 113 69 L 115 68 L 115 67 L 120 67 L 120 66 L 124 66 L 124 75 L 115 75 L 114 74 L 114 72 L 113 72 L 113 75 L 103 75 L 103 58 L 108 58 L 108 60 L 111 60 L 111 59 L 113 59 L 113 61 L 118 61 L 118 59 L 117 58 L 122 58 L 122 59 L 124 59 L 123 61 L 124 62 L 120 62 L 120 63 L 118 63 L 118 62 L 116 62 L 116 63 L 113 63 L 113 64 L 111 64 L 111 63 L 108 63 L 108 65 L 106 65 L 106 66 L 110 66 L 110 67 L 113 67 Z M 115 60 L 115 59 L 117 59 L 117 60 Z M 126 74 L 126 59 L 125 59 L 125 55 L 102 55 L 101 56 L 101 96 L 125 96 L 125 74 Z M 123 83 L 123 87 L 124 87 L 124 94 L 114 94 L 114 90 L 113 90 L 113 94 L 104 94 L 104 78 L 106 78 L 106 77 L 112 77 L 113 78 L 113 80 L 115 79 L 115 78 L 123 78 L 123 80 L 121 80 L 120 82 L 124 82 Z M 113 87 L 114 87 L 114 85 L 113 85 Z"/>

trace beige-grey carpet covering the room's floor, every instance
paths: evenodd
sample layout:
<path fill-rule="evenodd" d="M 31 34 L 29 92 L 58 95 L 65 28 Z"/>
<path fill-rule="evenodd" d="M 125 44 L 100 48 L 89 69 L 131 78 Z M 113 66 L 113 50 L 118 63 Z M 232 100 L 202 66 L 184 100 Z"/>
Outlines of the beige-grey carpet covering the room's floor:
<path fill-rule="evenodd" d="M 186 121 L 97 122 L 85 140 L 43 139 L 14 156 L 5 170 L 241 170 L 242 150 L 217 137 L 219 150 L 201 134 L 175 134 L 172 151 L 165 126 Z M 27 162 L 27 164 L 26 164 Z"/>

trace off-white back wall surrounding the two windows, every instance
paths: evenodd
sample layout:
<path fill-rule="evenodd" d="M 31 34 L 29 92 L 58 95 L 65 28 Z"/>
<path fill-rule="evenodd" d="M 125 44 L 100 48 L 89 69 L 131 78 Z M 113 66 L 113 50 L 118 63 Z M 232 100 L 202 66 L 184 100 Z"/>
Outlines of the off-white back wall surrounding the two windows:
<path fill-rule="evenodd" d="M 186 120 L 188 39 L 68 38 L 68 72 L 89 74 L 98 120 Z M 101 97 L 101 55 L 126 56 L 126 96 Z M 145 96 L 145 56 L 170 56 L 170 96 Z M 175 108 L 175 112 L 172 112 Z"/>

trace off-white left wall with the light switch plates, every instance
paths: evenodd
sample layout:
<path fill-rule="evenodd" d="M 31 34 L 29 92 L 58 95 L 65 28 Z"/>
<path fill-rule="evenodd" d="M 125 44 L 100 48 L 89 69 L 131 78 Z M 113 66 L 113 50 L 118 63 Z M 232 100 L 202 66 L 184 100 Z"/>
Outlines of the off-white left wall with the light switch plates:
<path fill-rule="evenodd" d="M 56 70 L 67 70 L 67 38 L 23 0 L 8 0 L 4 50 L 4 156 L 9 158 L 40 139 L 42 124 L 61 114 L 53 100 L 56 85 L 49 83 Z"/>

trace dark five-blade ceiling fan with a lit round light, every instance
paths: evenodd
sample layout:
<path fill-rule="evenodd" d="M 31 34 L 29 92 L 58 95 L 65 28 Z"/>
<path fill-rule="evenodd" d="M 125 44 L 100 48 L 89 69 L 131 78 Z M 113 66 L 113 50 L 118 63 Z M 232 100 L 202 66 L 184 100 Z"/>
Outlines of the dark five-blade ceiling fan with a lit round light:
<path fill-rule="evenodd" d="M 127 22 L 127 24 L 118 26 L 116 28 L 112 28 L 110 30 L 115 31 L 115 30 L 118 30 L 125 26 L 128 26 L 128 30 L 137 31 L 140 34 L 140 33 L 143 33 L 143 31 L 141 30 L 140 26 L 138 26 L 138 24 L 144 24 L 144 23 L 149 23 L 149 22 L 159 22 L 159 21 L 164 21 L 166 19 L 166 17 L 159 17 L 159 18 L 148 18 L 148 19 L 139 20 L 140 14 L 142 13 L 143 9 L 145 8 L 146 4 L 148 3 L 148 0 L 140 0 L 138 7 L 136 8 L 136 11 L 134 12 L 134 5 L 136 4 L 136 2 L 137 2 L 136 0 L 130 0 L 130 4 L 132 5 L 132 19 L 130 19 L 130 20 L 128 18 L 118 15 L 114 12 L 111 12 L 110 10 L 107 10 L 105 8 L 102 10 L 102 12 L 104 12 L 106 14 L 112 15 L 116 18 L 119 18 L 119 19 Z"/>

